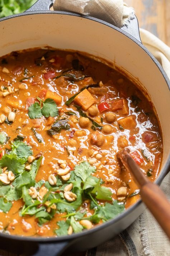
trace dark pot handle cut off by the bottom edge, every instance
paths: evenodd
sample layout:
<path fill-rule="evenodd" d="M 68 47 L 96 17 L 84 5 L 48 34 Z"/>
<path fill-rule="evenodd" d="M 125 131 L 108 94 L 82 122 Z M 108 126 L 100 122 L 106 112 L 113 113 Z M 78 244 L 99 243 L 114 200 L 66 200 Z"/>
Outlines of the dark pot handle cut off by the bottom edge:
<path fill-rule="evenodd" d="M 37 251 L 31 256 L 60 256 L 70 245 L 70 242 L 63 241 L 57 243 L 38 243 Z"/>

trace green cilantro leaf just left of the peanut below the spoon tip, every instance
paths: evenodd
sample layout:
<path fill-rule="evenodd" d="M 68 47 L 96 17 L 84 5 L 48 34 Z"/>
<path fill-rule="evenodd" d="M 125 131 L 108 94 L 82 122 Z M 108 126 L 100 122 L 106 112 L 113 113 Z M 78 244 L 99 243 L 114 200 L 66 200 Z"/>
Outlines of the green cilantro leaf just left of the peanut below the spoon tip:
<path fill-rule="evenodd" d="M 112 192 L 110 191 L 109 188 L 100 186 L 100 180 L 94 186 L 94 189 L 91 191 L 91 193 L 96 195 L 96 199 L 107 200 L 107 201 L 112 200 L 112 197 L 111 197 Z"/>

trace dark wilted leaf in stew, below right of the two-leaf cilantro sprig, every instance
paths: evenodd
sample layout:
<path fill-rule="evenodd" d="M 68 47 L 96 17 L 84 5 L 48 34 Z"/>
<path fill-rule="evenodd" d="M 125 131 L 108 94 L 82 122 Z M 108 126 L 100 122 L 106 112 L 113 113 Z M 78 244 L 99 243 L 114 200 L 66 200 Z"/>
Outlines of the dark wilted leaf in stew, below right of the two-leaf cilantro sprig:
<path fill-rule="evenodd" d="M 55 134 L 57 134 L 61 130 L 69 130 L 70 129 L 70 125 L 69 125 L 68 122 L 69 122 L 69 119 L 66 119 L 66 118 L 63 118 L 63 119 L 60 119 L 60 120 L 56 121 L 51 126 L 51 129 L 49 129 L 47 131 L 48 134 L 49 135 L 55 135 Z"/>

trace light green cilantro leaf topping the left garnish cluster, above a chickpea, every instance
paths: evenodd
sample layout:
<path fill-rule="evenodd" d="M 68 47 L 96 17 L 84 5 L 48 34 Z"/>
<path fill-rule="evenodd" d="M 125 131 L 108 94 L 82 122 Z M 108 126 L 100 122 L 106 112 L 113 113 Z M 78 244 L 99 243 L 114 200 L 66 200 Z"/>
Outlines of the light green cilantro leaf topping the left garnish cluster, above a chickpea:
<path fill-rule="evenodd" d="M 24 158 L 25 161 L 29 156 L 32 156 L 33 154 L 31 147 L 24 142 L 20 142 L 19 140 L 16 140 L 12 143 L 12 149 L 16 152 L 19 158 Z"/>

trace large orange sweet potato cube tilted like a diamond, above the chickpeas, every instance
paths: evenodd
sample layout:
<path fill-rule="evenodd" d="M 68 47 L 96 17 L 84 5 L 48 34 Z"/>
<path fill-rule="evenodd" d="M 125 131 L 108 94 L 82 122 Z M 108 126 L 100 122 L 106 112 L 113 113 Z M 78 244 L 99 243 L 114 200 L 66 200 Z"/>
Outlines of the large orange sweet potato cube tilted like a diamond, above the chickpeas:
<path fill-rule="evenodd" d="M 87 89 L 81 91 L 81 93 L 79 93 L 76 96 L 74 101 L 75 101 L 75 103 L 80 105 L 83 110 L 87 110 L 95 103 L 95 99 L 93 98 L 91 93 L 89 93 L 89 91 Z"/>

